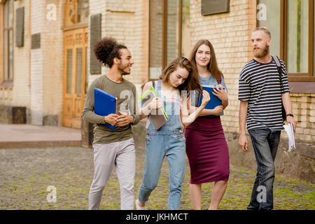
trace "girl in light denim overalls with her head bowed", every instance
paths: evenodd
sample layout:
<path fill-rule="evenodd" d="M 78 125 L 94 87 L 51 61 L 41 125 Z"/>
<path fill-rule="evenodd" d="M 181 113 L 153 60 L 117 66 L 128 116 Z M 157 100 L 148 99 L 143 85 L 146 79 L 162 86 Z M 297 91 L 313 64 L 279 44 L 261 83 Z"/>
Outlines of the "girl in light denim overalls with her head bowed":
<path fill-rule="evenodd" d="M 147 92 L 153 83 L 148 82 L 144 85 L 143 92 Z M 202 105 L 193 113 L 189 114 L 186 97 L 183 91 L 202 89 L 195 69 L 185 57 L 178 57 L 169 63 L 160 80 L 155 81 L 155 90 L 158 98 L 153 99 L 151 104 L 142 109 L 141 118 L 146 118 L 152 109 L 164 106 L 168 115 L 165 125 L 155 130 L 150 123 L 146 131 L 146 162 L 144 167 L 144 180 L 139 188 L 138 199 L 136 200 L 137 209 L 145 209 L 145 202 L 151 195 L 152 190 L 158 185 L 160 169 L 163 159 L 167 156 L 169 162 L 169 210 L 179 209 L 181 200 L 181 183 L 185 176 L 185 137 L 181 124 L 184 126 L 193 123 L 195 118 L 209 102 L 209 93 L 204 91 Z"/>

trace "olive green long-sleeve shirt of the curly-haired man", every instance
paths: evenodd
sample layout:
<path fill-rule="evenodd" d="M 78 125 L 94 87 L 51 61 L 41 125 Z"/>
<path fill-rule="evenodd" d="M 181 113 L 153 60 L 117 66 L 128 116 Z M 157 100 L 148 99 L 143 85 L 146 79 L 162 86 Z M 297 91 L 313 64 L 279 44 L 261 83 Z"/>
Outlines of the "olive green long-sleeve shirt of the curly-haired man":
<path fill-rule="evenodd" d="M 130 113 L 134 116 L 134 123 L 124 127 L 116 126 L 115 130 L 106 127 L 104 116 L 94 113 L 94 88 L 117 97 L 117 111 Z M 82 117 L 83 120 L 95 124 L 93 144 L 108 144 L 132 138 L 131 125 L 137 125 L 140 120 L 140 115 L 137 114 L 136 87 L 125 78 L 123 83 L 115 83 L 106 75 L 96 78 L 87 90 Z"/>

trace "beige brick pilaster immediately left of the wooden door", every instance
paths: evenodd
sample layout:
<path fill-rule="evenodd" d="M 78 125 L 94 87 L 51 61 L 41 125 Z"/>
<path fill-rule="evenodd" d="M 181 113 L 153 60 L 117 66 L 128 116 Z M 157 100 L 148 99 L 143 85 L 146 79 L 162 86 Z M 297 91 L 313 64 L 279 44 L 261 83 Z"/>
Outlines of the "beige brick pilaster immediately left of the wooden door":
<path fill-rule="evenodd" d="M 43 29 L 41 49 L 43 52 L 43 112 L 57 115 L 61 121 L 63 97 L 63 18 L 64 1 L 45 0 L 43 4 Z M 56 6 L 56 20 L 48 20 L 48 4 Z"/>

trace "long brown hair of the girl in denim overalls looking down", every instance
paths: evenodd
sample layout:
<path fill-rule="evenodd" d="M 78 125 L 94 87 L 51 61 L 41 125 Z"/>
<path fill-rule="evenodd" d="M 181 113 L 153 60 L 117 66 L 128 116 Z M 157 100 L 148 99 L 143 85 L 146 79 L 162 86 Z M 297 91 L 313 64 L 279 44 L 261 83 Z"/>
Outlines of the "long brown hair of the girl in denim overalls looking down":
<path fill-rule="evenodd" d="M 182 90 L 186 90 L 188 94 L 190 90 L 198 90 L 199 92 L 202 92 L 202 87 L 197 76 L 197 70 L 186 57 L 177 57 L 173 62 L 167 64 L 159 77 L 160 80 L 168 82 L 169 75 L 176 70 L 177 66 L 181 66 L 181 68 L 187 69 L 189 72 L 189 76 L 185 82 L 177 87 L 179 94 L 181 94 Z"/>

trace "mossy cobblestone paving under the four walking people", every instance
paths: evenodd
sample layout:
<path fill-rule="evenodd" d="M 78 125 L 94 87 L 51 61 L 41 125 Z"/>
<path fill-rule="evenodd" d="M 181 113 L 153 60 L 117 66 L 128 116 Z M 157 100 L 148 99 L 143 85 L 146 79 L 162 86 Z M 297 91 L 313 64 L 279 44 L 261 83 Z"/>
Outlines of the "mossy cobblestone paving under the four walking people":
<path fill-rule="evenodd" d="M 137 197 L 144 175 L 144 150 L 136 150 L 134 193 Z M 92 148 L 2 148 L 0 149 L 1 209 L 87 209 L 94 174 Z M 189 196 L 190 169 L 186 176 L 180 209 L 193 209 Z M 251 198 L 255 171 L 230 166 L 228 188 L 219 209 L 246 209 Z M 214 183 L 202 185 L 202 209 L 208 209 Z M 52 186 L 52 187 L 51 187 Z M 56 201 L 49 201 L 55 187 Z M 50 190 L 49 190 L 50 189 Z M 120 186 L 113 169 L 104 188 L 100 209 L 120 209 Z M 167 209 L 169 168 L 165 160 L 158 186 L 148 201 L 148 209 Z M 274 181 L 274 209 L 315 209 L 315 185 L 304 181 Z M 209 214 L 211 218 L 211 214 Z M 116 222 L 117 223 L 117 222 Z M 122 222 L 123 223 L 123 222 Z M 132 222 L 131 222 L 132 223 Z M 144 223 L 144 222 L 142 222 Z"/>

